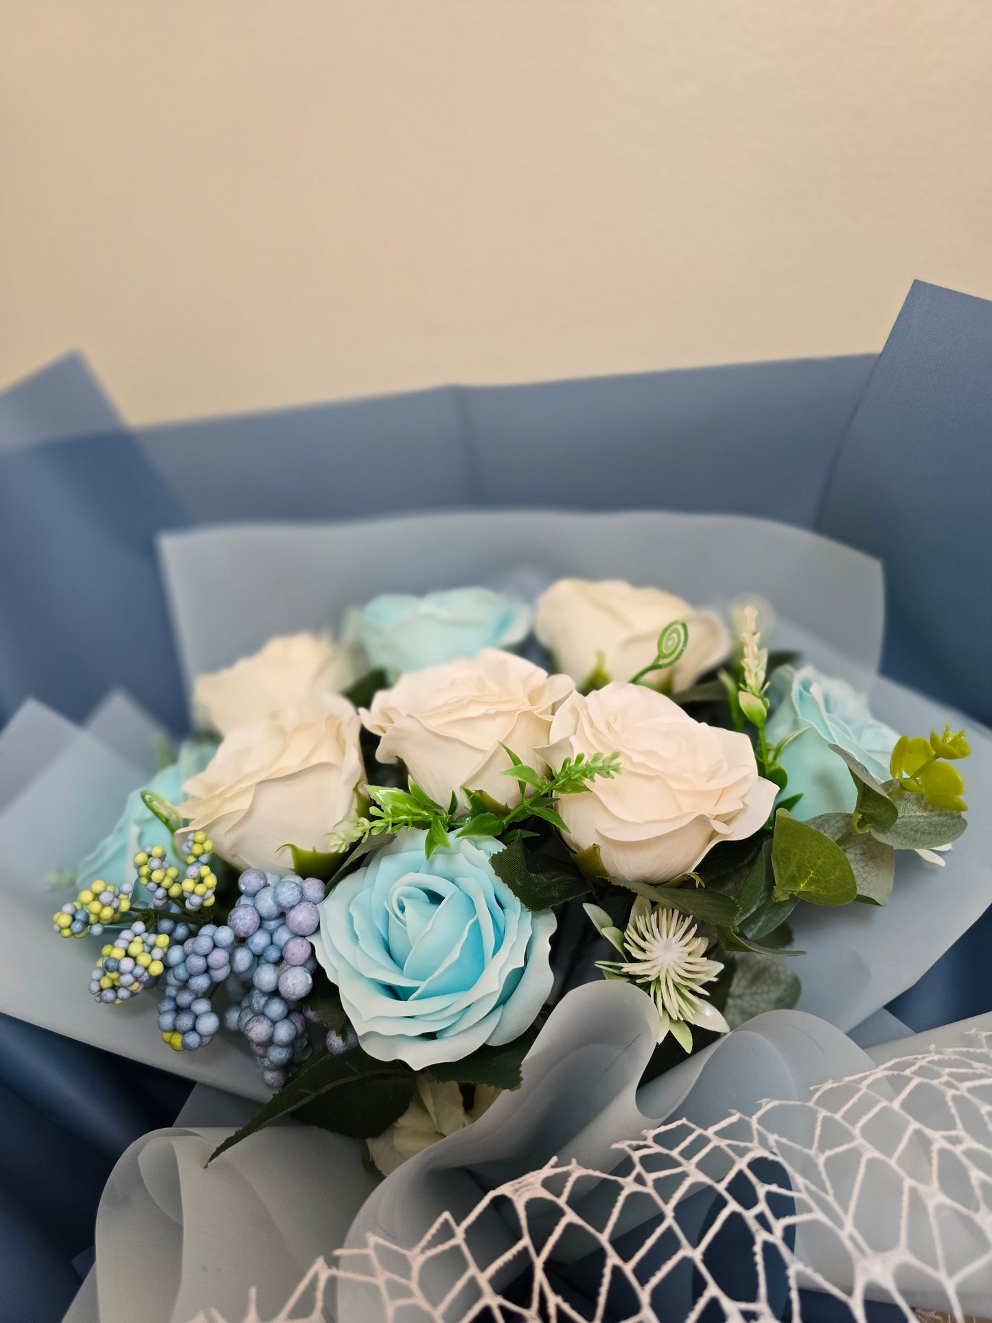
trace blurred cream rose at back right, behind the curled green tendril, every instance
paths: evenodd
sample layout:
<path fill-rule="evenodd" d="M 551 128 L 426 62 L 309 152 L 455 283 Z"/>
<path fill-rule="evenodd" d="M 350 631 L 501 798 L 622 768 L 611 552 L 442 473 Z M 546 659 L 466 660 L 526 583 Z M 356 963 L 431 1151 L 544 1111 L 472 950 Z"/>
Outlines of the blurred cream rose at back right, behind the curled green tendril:
<path fill-rule="evenodd" d="M 554 665 L 586 688 L 593 676 L 632 680 L 655 659 L 659 634 L 673 620 L 689 627 L 685 652 L 645 679 L 677 693 L 723 660 L 730 634 L 713 611 L 697 611 L 671 593 L 623 579 L 558 579 L 537 599 L 534 634 Z"/>

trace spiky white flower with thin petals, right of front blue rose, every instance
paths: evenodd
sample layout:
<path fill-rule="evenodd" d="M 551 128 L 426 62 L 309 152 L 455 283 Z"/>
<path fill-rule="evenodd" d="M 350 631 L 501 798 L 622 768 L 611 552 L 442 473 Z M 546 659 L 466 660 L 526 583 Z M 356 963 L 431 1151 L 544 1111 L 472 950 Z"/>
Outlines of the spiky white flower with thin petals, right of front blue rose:
<path fill-rule="evenodd" d="M 598 967 L 607 978 L 639 984 L 657 1007 L 659 1043 L 671 1031 L 692 1052 L 690 1024 L 716 1033 L 729 1031 L 730 1025 L 704 991 L 704 984 L 712 983 L 723 966 L 706 959 L 706 938 L 689 916 L 664 905 L 652 906 L 639 896 L 627 931 L 620 933 L 598 905 L 586 905 L 585 910 L 602 935 L 627 957 L 600 960 Z"/>

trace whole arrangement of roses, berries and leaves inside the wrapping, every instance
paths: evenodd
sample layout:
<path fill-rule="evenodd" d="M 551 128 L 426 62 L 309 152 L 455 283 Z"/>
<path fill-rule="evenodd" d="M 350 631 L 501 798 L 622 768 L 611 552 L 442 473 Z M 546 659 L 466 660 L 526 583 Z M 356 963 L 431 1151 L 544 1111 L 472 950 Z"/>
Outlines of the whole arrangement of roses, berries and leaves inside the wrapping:
<path fill-rule="evenodd" d="M 78 865 L 89 991 L 163 1050 L 241 1037 L 389 1174 L 518 1088 L 577 984 L 651 999 L 660 1076 L 796 1005 L 807 906 L 885 906 L 966 830 L 963 732 L 770 652 L 767 603 L 562 578 L 381 594 L 194 676 L 194 737 Z M 952 865 L 951 865 L 952 867 Z"/>

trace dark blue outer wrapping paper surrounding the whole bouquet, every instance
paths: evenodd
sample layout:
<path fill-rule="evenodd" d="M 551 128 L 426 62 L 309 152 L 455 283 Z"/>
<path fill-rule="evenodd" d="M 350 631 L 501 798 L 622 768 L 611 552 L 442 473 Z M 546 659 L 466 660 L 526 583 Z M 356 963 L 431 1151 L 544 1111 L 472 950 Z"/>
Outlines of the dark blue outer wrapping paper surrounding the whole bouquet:
<path fill-rule="evenodd" d="M 62 360 L 0 394 L 0 721 L 28 696 L 81 720 L 120 687 L 183 729 L 163 531 L 520 504 L 763 515 L 868 550 L 886 568 L 885 672 L 988 721 L 989 361 L 992 304 L 923 284 L 877 361 L 448 388 L 136 434 Z M 985 916 L 891 1009 L 921 1029 L 988 1009 L 989 939 Z M 61 1316 L 106 1172 L 185 1088 L 0 1017 L 12 1316 Z"/>

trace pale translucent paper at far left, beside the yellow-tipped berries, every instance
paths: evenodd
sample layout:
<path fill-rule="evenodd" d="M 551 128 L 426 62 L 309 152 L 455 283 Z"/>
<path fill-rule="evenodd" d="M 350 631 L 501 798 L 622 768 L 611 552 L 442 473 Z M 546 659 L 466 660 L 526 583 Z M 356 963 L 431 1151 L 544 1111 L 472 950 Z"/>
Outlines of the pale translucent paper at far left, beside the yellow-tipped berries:
<path fill-rule="evenodd" d="M 153 737 L 151 718 L 124 695 L 104 700 L 89 726 L 28 701 L 0 733 L 0 1011 L 263 1101 L 269 1090 L 241 1040 L 220 1035 L 208 1052 L 172 1052 L 159 1033 L 157 998 L 98 1004 L 87 984 L 99 942 L 52 930 L 53 913 L 75 896 L 79 860 L 148 783 Z"/>

